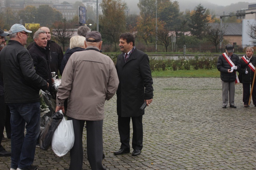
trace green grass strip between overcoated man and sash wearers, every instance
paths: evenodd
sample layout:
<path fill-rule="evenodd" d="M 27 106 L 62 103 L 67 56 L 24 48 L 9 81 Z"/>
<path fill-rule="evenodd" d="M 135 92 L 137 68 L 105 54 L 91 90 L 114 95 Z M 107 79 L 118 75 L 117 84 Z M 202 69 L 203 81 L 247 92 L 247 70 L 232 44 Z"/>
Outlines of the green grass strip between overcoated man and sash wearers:
<path fill-rule="evenodd" d="M 192 69 L 192 70 L 166 70 L 166 71 L 154 71 L 152 77 L 220 77 L 220 73 L 217 68 L 214 69 Z"/>

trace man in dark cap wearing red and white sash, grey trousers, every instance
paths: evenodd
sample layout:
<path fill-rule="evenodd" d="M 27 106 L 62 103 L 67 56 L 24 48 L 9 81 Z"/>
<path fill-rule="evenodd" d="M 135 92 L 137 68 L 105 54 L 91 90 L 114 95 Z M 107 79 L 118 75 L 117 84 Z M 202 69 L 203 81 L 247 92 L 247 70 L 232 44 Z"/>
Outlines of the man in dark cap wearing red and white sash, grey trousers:
<path fill-rule="evenodd" d="M 234 46 L 228 44 L 226 52 L 218 58 L 217 69 L 221 72 L 222 80 L 222 108 L 227 108 L 228 99 L 229 107 L 237 108 L 234 105 L 235 84 L 239 83 L 238 71 L 241 63 L 238 55 L 233 53 Z"/>

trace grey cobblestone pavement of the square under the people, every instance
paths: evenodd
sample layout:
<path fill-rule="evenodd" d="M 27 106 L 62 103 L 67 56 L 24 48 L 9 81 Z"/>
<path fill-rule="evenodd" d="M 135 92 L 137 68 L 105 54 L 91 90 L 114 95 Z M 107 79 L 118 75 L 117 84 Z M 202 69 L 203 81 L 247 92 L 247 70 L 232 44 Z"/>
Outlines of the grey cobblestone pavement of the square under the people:
<path fill-rule="evenodd" d="M 154 78 L 154 99 L 143 117 L 144 146 L 139 156 L 115 156 L 120 147 L 116 96 L 105 104 L 103 165 L 126 169 L 256 169 L 256 107 L 244 108 L 242 84 L 236 86 L 236 109 L 222 108 L 220 78 Z M 84 131 L 86 137 L 86 131 Z M 84 139 L 86 140 L 86 139 Z M 10 151 L 10 141 L 2 142 Z M 132 150 L 131 150 L 132 151 Z M 40 170 L 69 167 L 69 153 L 36 149 Z M 0 157 L 0 169 L 10 157 Z M 83 169 L 90 169 L 84 141 Z"/>

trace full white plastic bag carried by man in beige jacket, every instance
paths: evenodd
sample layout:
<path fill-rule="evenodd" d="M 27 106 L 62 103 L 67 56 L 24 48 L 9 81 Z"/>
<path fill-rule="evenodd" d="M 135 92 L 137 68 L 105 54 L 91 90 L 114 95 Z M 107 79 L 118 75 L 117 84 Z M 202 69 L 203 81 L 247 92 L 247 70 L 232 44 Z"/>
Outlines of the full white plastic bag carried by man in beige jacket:
<path fill-rule="evenodd" d="M 70 151 L 74 145 L 75 136 L 72 120 L 63 117 L 55 130 L 52 138 L 52 150 L 57 156 L 63 156 Z"/>

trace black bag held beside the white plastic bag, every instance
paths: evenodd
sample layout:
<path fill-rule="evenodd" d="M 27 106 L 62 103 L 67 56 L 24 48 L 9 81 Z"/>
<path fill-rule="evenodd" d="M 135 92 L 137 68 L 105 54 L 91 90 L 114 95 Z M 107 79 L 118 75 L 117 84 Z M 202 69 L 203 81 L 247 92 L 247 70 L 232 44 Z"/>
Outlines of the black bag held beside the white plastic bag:
<path fill-rule="evenodd" d="M 53 116 L 49 119 L 48 123 L 46 124 L 45 128 L 43 129 L 39 137 L 39 145 L 42 150 L 48 150 L 53 138 L 54 131 L 57 129 L 62 118 L 62 111 L 59 110 L 56 113 L 54 113 Z"/>

